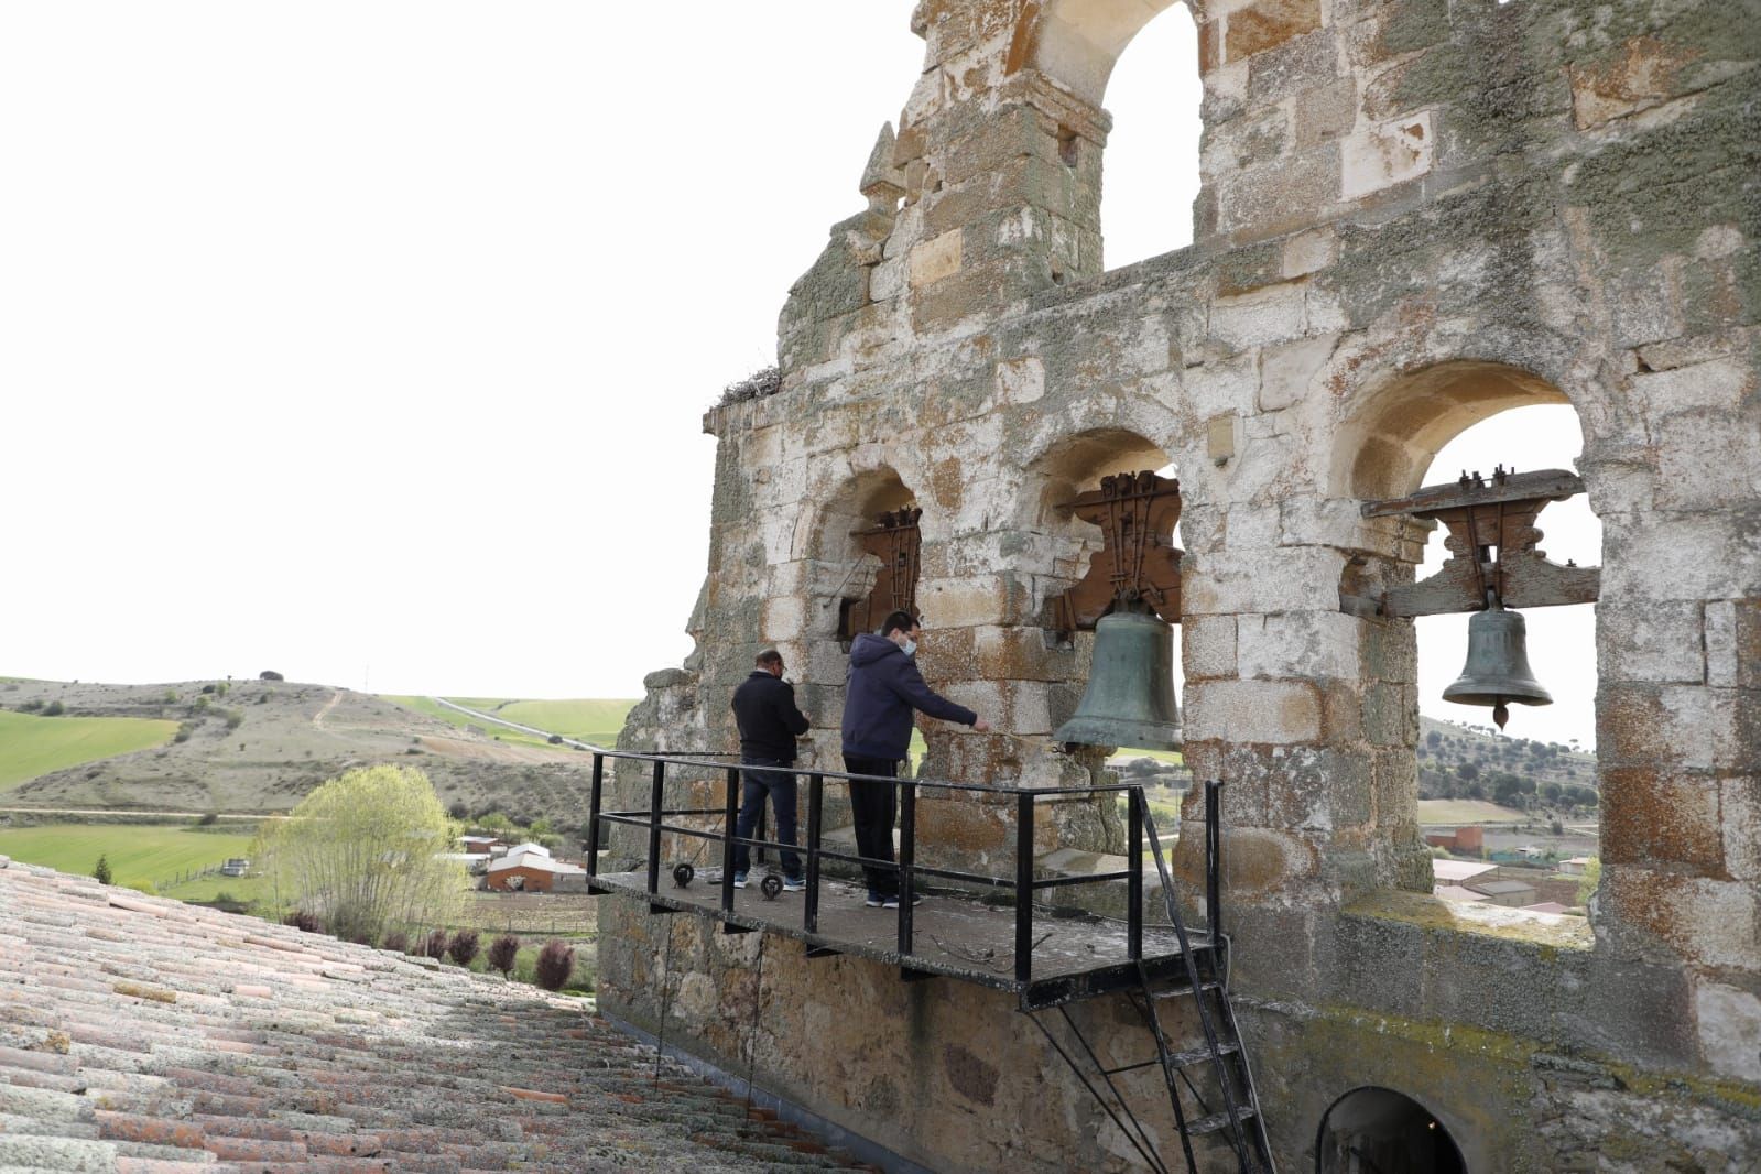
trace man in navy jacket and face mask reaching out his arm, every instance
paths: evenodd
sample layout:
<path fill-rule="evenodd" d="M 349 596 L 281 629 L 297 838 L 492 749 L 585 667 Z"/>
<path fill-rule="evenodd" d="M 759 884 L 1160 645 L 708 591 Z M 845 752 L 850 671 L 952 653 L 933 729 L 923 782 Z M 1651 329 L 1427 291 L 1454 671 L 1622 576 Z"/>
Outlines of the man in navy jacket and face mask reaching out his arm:
<path fill-rule="evenodd" d="M 910 748 L 912 709 L 979 732 L 990 729 L 990 722 L 923 683 L 912 660 L 919 635 L 917 620 L 909 611 L 895 611 L 879 635 L 863 632 L 851 644 L 851 686 L 844 701 L 844 769 L 851 774 L 898 778 L 898 762 Z M 858 855 L 893 862 L 898 787 L 851 780 L 851 808 Z M 898 873 L 866 866 L 863 871 L 868 906 L 898 908 Z"/>

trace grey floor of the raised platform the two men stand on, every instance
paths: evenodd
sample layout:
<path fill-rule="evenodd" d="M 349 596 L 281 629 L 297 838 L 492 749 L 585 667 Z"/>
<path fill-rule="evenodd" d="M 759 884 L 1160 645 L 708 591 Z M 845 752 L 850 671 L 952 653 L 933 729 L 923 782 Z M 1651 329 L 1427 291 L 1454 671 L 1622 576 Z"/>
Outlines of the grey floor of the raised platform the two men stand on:
<path fill-rule="evenodd" d="M 807 947 L 808 958 L 849 954 L 898 966 L 905 979 L 942 977 L 1007 991 L 1021 1010 L 1043 1010 L 1078 1000 L 1141 987 L 1145 979 L 1164 989 L 1185 982 L 1185 961 L 1173 928 L 1143 926 L 1143 961 L 1131 959 L 1124 922 L 1097 917 L 1050 915 L 1035 919 L 1032 977 L 1016 977 L 1014 910 L 965 894 L 926 894 L 912 910 L 912 950 L 898 950 L 896 908 L 868 908 L 861 885 L 822 878 L 817 929 L 803 926 L 805 892 L 764 898 L 752 885 L 734 889 L 733 908 L 722 908 L 722 885 L 694 878 L 678 887 L 671 878 L 650 892 L 646 871 L 601 873 L 590 889 L 648 901 L 652 912 L 696 914 L 722 922 L 727 933 L 775 933 Z M 1217 973 L 1210 936 L 1189 931 L 1187 942 L 1201 973 Z"/>

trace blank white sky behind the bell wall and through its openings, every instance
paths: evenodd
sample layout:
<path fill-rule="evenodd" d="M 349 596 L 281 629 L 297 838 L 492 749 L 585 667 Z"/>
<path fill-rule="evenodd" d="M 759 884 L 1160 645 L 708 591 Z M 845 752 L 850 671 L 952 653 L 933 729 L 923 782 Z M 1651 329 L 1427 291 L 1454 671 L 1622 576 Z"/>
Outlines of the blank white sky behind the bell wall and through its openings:
<path fill-rule="evenodd" d="M 639 695 L 910 9 L 0 0 L 0 672 Z M 1194 60 L 1115 74 L 1109 264 L 1190 239 Z"/>

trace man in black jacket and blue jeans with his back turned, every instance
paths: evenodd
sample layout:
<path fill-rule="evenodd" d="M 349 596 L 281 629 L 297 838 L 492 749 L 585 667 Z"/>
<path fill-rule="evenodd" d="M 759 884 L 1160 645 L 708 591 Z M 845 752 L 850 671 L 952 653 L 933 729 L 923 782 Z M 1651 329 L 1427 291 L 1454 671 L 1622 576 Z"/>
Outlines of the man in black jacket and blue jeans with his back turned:
<path fill-rule="evenodd" d="M 807 732 L 807 718 L 794 704 L 794 686 L 782 679 L 782 653 L 766 648 L 757 655 L 750 676 L 734 690 L 734 723 L 740 727 L 740 764 L 745 787 L 740 796 L 740 820 L 734 834 L 748 840 L 759 825 L 764 811 L 764 796 L 770 796 L 771 810 L 777 811 L 777 843 L 794 843 L 794 774 L 787 771 L 763 771 L 752 767 L 791 766 L 794 764 L 794 739 Z M 747 887 L 747 869 L 752 866 L 752 852 L 747 845 L 734 845 L 734 887 Z M 799 892 L 807 887 L 801 878 L 801 857 L 794 852 L 782 854 L 782 887 Z"/>

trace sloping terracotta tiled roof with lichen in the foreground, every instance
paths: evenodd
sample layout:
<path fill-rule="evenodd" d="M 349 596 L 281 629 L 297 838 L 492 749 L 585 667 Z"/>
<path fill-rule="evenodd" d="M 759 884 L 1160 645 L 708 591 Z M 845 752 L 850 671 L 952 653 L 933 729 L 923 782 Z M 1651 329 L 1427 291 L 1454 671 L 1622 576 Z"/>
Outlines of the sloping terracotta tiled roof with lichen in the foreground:
<path fill-rule="evenodd" d="M 852 1165 L 581 1000 L 7 864 L 7 1174 Z"/>

